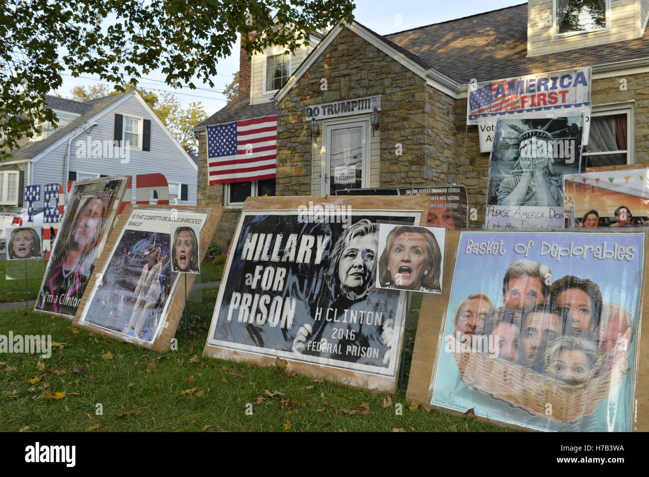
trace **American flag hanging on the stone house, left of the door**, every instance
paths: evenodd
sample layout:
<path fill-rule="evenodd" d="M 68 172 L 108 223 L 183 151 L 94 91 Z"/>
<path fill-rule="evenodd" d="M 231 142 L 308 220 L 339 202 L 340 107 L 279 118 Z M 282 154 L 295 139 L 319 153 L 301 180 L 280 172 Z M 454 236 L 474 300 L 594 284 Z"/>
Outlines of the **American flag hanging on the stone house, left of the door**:
<path fill-rule="evenodd" d="M 275 177 L 277 116 L 207 127 L 210 184 Z"/>

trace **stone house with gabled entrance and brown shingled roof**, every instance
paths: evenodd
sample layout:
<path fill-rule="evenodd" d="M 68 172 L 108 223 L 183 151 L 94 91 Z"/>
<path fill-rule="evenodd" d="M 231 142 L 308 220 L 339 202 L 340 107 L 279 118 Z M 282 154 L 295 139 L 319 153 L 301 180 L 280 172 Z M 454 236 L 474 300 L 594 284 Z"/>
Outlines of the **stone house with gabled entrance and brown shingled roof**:
<path fill-rule="evenodd" d="M 467 125 L 472 80 L 590 66 L 586 165 L 649 162 L 648 15 L 649 0 L 530 0 L 387 35 L 352 21 L 291 67 L 274 106 L 251 92 L 227 117 L 235 121 L 244 108 L 248 117 L 261 116 L 254 108 L 277 115 L 276 195 L 330 195 L 353 172 L 356 187 L 465 184 L 482 211 L 489 153 L 480 152 L 478 126 Z M 246 70 L 253 78 L 254 64 Z M 326 117 L 313 116 L 316 109 Z M 221 121 L 219 113 L 197 130 L 199 204 L 258 193 L 208 185 L 204 127 Z M 219 238 L 226 245 L 228 231 Z"/>

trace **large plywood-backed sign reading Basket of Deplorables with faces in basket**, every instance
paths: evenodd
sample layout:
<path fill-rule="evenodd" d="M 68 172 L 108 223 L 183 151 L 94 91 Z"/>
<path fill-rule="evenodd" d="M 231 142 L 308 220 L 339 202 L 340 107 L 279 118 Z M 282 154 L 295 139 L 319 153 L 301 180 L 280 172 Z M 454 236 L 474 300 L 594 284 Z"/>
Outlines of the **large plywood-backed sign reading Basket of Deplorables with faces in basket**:
<path fill-rule="evenodd" d="M 422 302 L 406 397 L 531 430 L 648 430 L 647 245 L 447 232 L 450 286 Z"/>

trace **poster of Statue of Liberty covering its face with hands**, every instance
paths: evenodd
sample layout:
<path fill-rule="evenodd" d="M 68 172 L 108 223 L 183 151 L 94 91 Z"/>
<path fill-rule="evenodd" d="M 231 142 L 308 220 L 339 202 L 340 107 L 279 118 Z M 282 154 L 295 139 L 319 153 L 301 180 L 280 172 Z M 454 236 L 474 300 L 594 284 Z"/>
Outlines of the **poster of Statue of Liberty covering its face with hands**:
<path fill-rule="evenodd" d="M 499 119 L 484 228 L 563 228 L 563 175 L 578 173 L 583 117 Z"/>

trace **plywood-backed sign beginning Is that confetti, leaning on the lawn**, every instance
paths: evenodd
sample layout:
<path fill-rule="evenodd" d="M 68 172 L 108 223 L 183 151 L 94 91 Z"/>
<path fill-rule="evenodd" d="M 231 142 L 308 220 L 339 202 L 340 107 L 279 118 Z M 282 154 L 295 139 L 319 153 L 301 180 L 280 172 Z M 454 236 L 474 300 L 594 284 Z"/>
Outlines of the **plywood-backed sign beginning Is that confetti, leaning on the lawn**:
<path fill-rule="evenodd" d="M 185 289 L 189 293 L 195 280 L 189 272 L 198 269 L 221 215 L 223 207 L 127 206 L 90 278 L 75 324 L 148 349 L 169 349 Z M 171 243 L 174 236 L 188 241 Z M 172 263 L 188 273 L 173 271 Z"/>

